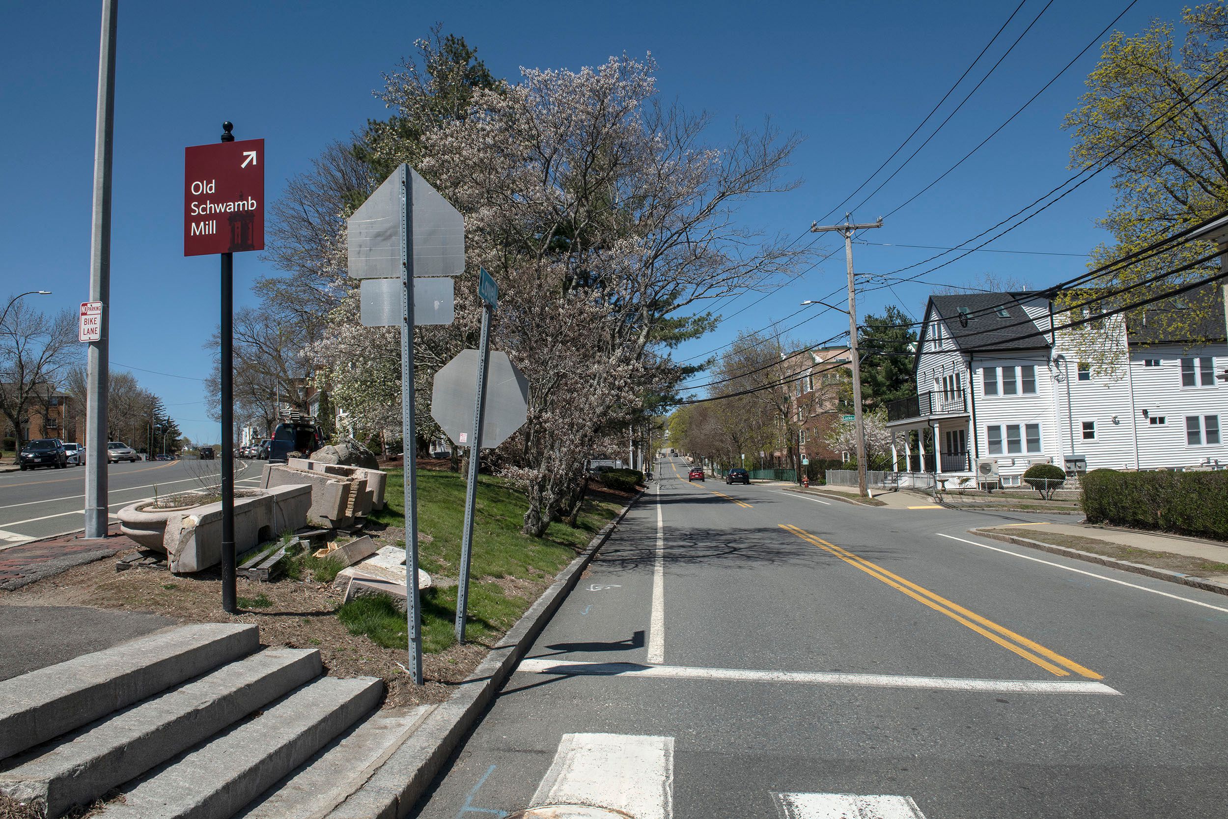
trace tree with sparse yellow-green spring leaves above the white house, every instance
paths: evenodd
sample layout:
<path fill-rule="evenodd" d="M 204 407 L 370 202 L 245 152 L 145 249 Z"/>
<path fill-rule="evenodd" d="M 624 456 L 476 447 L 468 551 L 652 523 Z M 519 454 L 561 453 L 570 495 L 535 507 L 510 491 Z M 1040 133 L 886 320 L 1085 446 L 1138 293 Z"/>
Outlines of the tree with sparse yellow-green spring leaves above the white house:
<path fill-rule="evenodd" d="M 1228 71 L 1228 9 L 1223 2 L 1187 7 L 1180 22 L 1185 28 L 1180 47 L 1170 21 L 1154 20 L 1135 36 L 1115 32 L 1102 45 L 1079 107 L 1063 123 L 1074 136 L 1072 167 L 1113 166 L 1116 201 L 1100 220 L 1113 241 L 1094 249 L 1093 266 L 1228 208 L 1228 83 L 1223 75 Z M 1191 242 L 1099 279 L 1097 286 L 1142 282 L 1214 249 L 1211 242 Z M 1109 296 L 1099 307 L 1129 307 L 1180 284 L 1201 281 L 1211 270 L 1218 270 L 1213 260 Z M 1086 296 L 1068 293 L 1059 302 L 1072 306 Z M 1213 300 L 1202 303 L 1201 311 L 1156 311 L 1147 319 L 1167 324 L 1174 336 L 1200 341 L 1196 328 L 1206 311 L 1214 308 Z M 1086 341 L 1089 360 L 1111 367 L 1120 350 L 1105 347 L 1100 335 L 1082 333 L 1078 339 Z"/>

